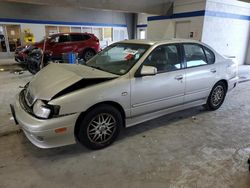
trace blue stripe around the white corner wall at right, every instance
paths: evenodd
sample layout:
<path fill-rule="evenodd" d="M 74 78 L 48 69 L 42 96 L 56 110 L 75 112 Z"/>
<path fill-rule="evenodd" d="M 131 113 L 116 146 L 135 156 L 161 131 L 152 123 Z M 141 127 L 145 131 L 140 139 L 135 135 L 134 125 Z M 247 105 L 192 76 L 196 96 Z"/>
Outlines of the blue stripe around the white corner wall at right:
<path fill-rule="evenodd" d="M 175 18 L 188 18 L 188 17 L 196 17 L 196 16 L 212 16 L 212 17 L 231 18 L 231 19 L 250 21 L 250 16 L 247 16 L 247 15 L 232 14 L 232 13 L 226 13 L 226 12 L 216 12 L 216 11 L 210 11 L 210 10 L 178 13 L 178 14 L 173 14 L 171 16 L 151 16 L 151 17 L 148 17 L 148 21 L 166 20 L 166 19 L 175 19 Z"/>

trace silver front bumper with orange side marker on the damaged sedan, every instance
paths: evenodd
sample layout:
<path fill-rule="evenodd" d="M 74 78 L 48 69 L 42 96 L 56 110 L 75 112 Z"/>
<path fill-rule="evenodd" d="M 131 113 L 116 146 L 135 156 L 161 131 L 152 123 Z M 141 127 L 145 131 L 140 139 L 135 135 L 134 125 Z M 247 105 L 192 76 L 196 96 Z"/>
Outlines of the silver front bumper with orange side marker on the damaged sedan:
<path fill-rule="evenodd" d="M 39 148 L 53 148 L 76 143 L 74 127 L 79 114 L 46 120 L 38 119 L 23 109 L 19 96 L 12 107 L 12 114 L 26 137 Z M 66 131 L 56 133 L 55 129 L 58 128 L 66 128 Z"/>

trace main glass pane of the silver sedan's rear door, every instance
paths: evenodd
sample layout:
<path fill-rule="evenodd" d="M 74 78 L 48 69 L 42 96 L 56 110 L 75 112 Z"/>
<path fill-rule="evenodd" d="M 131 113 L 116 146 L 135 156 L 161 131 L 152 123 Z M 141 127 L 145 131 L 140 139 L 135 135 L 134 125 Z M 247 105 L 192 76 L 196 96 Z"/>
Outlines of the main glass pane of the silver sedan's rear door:
<path fill-rule="evenodd" d="M 184 44 L 187 68 L 206 65 L 206 56 L 201 46 L 197 44 Z"/>

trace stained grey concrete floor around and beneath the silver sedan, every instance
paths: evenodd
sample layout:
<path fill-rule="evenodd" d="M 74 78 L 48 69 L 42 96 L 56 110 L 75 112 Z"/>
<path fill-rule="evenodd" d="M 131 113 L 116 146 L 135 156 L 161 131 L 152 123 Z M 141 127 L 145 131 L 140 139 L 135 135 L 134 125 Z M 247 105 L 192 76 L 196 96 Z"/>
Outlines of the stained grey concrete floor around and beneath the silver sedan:
<path fill-rule="evenodd" d="M 1 188 L 250 187 L 250 82 L 229 93 L 217 111 L 198 107 L 167 115 L 90 151 L 79 144 L 43 150 L 22 132 L 6 133 L 16 127 L 5 105 L 30 78 L 0 72 Z"/>

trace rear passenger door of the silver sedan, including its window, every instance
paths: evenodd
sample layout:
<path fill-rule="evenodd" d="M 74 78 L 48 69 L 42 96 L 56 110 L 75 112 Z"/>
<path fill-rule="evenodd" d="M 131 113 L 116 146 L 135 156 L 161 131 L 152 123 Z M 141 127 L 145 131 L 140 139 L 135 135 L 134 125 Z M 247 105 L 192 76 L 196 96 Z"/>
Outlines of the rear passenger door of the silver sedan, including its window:
<path fill-rule="evenodd" d="M 216 80 L 215 56 L 200 44 L 184 43 L 182 47 L 186 67 L 184 103 L 204 100 Z"/>

